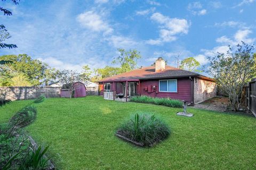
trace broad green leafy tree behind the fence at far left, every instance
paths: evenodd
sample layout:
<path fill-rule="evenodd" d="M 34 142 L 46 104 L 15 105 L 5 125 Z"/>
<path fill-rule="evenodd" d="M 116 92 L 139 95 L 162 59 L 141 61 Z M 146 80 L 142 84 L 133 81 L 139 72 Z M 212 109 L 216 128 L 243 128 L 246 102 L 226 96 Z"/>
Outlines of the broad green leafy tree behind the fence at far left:
<path fill-rule="evenodd" d="M 0 66 L 0 75 L 3 77 L 12 79 L 15 74 L 21 73 L 34 86 L 41 84 L 40 81 L 45 78 L 47 65 L 39 60 L 33 60 L 27 54 L 3 55 L 0 56 L 0 61 L 10 61 Z"/>

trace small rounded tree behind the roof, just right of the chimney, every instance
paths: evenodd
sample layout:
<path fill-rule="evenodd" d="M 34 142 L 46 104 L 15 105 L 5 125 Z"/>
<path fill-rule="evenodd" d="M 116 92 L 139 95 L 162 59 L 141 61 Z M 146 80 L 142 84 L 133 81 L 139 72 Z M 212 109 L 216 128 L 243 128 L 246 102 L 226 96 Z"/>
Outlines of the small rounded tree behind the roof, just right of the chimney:
<path fill-rule="evenodd" d="M 197 68 L 200 66 L 200 63 L 196 61 L 194 57 L 188 57 L 181 61 L 179 68 L 186 69 L 188 71 L 200 72 Z"/>

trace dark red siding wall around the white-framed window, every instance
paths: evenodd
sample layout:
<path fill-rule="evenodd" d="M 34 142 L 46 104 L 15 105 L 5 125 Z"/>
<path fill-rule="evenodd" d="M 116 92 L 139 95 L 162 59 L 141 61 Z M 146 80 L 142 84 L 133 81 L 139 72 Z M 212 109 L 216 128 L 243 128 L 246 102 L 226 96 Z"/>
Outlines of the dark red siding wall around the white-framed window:
<path fill-rule="evenodd" d="M 159 80 L 162 80 L 162 79 L 159 79 Z M 150 97 L 172 98 L 172 99 L 186 100 L 188 101 L 188 103 L 192 102 L 191 80 L 189 80 L 189 78 L 177 79 L 177 92 L 160 92 L 159 80 L 141 80 L 139 93 L 141 95 L 146 95 Z M 166 80 L 166 79 L 163 79 L 163 80 Z M 153 89 L 153 86 L 155 86 L 156 88 Z M 149 92 L 150 87 L 151 87 L 151 92 Z M 139 90 L 139 86 L 137 86 L 137 90 Z"/>

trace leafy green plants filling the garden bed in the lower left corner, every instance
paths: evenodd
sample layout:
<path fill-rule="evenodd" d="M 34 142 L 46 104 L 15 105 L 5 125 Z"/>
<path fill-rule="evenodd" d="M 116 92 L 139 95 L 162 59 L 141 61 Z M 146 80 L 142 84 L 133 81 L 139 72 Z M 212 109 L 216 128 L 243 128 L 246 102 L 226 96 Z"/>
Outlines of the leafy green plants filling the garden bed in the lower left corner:
<path fill-rule="evenodd" d="M 9 169 L 45 169 L 48 159 L 44 158 L 48 147 L 39 146 L 33 149 L 28 135 L 22 130 L 36 119 L 36 107 L 33 104 L 41 103 L 44 96 L 29 103 L 16 112 L 8 123 L 0 124 L 0 168 Z M 1 105 L 0 105 L 1 106 Z"/>

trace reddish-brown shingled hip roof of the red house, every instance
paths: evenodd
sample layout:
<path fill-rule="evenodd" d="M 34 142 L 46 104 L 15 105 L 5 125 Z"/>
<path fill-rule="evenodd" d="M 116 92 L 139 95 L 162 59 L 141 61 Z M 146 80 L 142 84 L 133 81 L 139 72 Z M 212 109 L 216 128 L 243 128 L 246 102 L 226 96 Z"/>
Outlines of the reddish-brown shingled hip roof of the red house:
<path fill-rule="evenodd" d="M 145 80 L 145 79 L 182 78 L 182 77 L 200 77 L 202 79 L 214 81 L 212 78 L 205 77 L 204 75 L 166 65 L 165 70 L 160 72 L 155 72 L 155 66 L 148 66 L 148 67 L 142 67 L 141 69 L 135 69 L 130 72 L 114 75 L 112 77 L 105 78 L 99 82 L 124 81 L 124 80 L 133 80 L 133 79 Z"/>

